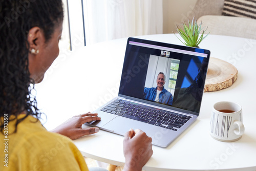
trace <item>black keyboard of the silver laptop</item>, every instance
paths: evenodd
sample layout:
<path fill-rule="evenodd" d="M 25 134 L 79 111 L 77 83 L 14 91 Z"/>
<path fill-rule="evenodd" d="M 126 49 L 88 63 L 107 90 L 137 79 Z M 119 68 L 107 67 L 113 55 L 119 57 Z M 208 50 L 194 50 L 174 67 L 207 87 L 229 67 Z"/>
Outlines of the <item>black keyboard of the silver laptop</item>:
<path fill-rule="evenodd" d="M 164 127 L 173 131 L 178 131 L 191 118 L 191 116 L 164 111 L 122 99 L 116 99 L 100 111 Z"/>

